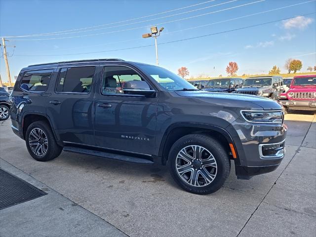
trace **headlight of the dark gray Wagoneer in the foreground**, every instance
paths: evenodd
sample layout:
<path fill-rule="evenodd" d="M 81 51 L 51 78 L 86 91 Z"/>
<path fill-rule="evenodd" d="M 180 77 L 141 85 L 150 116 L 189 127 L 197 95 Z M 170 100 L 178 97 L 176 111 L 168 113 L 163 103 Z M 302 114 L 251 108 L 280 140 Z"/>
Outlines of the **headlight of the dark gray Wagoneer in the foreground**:
<path fill-rule="evenodd" d="M 248 122 L 282 123 L 281 111 L 241 111 L 242 117 Z"/>

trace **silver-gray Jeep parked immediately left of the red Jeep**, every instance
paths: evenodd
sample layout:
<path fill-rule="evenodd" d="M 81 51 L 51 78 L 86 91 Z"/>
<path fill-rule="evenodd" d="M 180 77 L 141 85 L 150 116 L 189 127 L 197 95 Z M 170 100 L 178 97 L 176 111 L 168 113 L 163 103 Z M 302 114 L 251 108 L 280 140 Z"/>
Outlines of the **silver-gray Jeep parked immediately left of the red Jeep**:
<path fill-rule="evenodd" d="M 238 94 L 258 95 L 274 100 L 279 99 L 284 91 L 281 77 L 251 77 L 246 78 L 242 88 L 237 89 Z"/>

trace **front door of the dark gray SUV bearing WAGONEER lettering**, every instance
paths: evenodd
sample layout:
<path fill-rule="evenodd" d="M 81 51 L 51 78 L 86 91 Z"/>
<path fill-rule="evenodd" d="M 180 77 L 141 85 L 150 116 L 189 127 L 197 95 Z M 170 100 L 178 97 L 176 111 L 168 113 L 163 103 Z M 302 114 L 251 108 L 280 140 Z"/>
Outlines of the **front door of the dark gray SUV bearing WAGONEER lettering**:
<path fill-rule="evenodd" d="M 100 88 L 97 88 L 94 100 L 96 146 L 152 154 L 158 97 L 124 93 L 124 88 L 131 84 L 142 84 L 142 88 L 136 89 L 153 89 L 144 81 L 130 67 L 104 67 L 102 79 L 98 83 Z"/>

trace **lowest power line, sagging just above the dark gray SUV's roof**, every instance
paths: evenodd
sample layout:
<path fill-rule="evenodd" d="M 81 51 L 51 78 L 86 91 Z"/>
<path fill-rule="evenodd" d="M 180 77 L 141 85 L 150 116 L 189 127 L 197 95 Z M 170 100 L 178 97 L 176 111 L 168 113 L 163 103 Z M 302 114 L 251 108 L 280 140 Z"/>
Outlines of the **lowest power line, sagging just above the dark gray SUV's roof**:
<path fill-rule="evenodd" d="M 299 16 L 307 16 L 307 15 L 311 15 L 311 14 L 315 14 L 315 13 L 316 12 L 312 12 L 312 13 L 307 13 L 307 14 L 303 14 L 303 15 L 299 15 Z M 298 16 L 283 18 L 283 19 L 280 19 L 280 20 L 269 21 L 269 22 L 264 22 L 264 23 L 260 23 L 260 24 L 250 25 L 250 26 L 245 26 L 245 27 L 241 27 L 241 28 L 237 28 L 237 29 L 233 29 L 233 30 L 228 30 L 228 31 L 222 31 L 222 32 L 217 32 L 217 33 L 197 36 L 197 37 L 186 38 L 186 39 L 182 39 L 182 40 L 167 41 L 167 42 L 162 42 L 162 43 L 158 43 L 158 44 L 168 44 L 168 43 L 174 43 L 174 42 L 180 42 L 180 41 L 186 41 L 186 40 L 199 39 L 199 38 L 204 38 L 204 37 L 208 37 L 208 36 L 214 36 L 214 35 L 224 34 L 224 33 L 228 33 L 228 32 L 233 32 L 233 31 L 248 29 L 248 28 L 252 28 L 252 27 L 267 25 L 267 24 L 271 24 L 271 23 L 276 23 L 276 22 L 279 22 L 279 21 L 289 20 L 289 19 L 293 19 L 293 18 L 296 18 L 296 17 L 298 17 Z M 134 48 L 143 48 L 143 47 L 150 47 L 150 46 L 155 46 L 155 44 L 148 44 L 148 45 L 129 47 L 129 48 L 119 48 L 119 49 L 112 49 L 112 50 L 104 50 L 104 51 L 86 52 L 86 53 L 53 54 L 53 55 L 15 55 L 15 56 L 23 56 L 23 57 L 68 56 L 68 55 L 80 55 L 80 54 L 91 54 L 91 53 L 114 52 L 114 51 L 134 49 Z"/>

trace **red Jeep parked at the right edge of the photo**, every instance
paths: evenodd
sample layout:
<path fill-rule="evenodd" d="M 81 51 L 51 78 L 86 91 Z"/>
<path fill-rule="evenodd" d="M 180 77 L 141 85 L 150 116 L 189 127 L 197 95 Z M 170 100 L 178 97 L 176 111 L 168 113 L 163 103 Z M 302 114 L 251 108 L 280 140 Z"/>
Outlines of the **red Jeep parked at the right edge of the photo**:
<path fill-rule="evenodd" d="M 285 110 L 316 111 L 316 75 L 294 77 L 290 89 L 280 95 Z"/>

